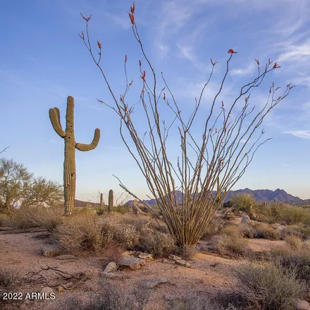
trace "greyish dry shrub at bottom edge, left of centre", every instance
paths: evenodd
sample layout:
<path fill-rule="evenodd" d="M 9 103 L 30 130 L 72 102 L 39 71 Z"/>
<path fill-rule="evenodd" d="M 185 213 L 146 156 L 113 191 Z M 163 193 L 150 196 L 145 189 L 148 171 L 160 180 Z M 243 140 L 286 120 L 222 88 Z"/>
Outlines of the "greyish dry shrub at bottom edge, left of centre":
<path fill-rule="evenodd" d="M 64 310 L 143 310 L 149 300 L 149 290 L 137 287 L 131 292 L 120 292 L 116 285 L 109 281 L 101 281 L 104 291 L 93 295 L 87 302 L 76 297 L 69 297 L 62 303 Z"/>

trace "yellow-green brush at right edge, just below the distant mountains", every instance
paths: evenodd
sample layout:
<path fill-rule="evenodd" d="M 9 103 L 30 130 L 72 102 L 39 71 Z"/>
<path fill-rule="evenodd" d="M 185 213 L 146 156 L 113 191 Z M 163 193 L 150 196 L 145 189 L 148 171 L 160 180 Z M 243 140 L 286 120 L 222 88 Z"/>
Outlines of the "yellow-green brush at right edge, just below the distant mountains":
<path fill-rule="evenodd" d="M 298 206 L 272 202 L 259 204 L 256 207 L 261 221 L 266 223 L 280 223 L 283 225 L 293 225 L 298 223 L 310 224 L 310 210 L 302 209 Z"/>

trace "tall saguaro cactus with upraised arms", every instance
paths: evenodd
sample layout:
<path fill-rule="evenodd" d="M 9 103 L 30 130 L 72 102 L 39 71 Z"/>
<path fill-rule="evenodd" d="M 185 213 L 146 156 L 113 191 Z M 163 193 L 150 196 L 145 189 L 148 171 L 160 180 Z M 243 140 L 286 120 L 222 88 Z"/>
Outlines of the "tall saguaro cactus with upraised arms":
<path fill-rule="evenodd" d="M 90 151 L 97 147 L 100 139 L 100 130 L 94 130 L 94 139 L 90 144 L 75 142 L 74 135 L 74 99 L 68 96 L 66 111 L 66 131 L 61 127 L 61 116 L 58 108 L 49 109 L 49 118 L 54 130 L 65 140 L 65 160 L 63 163 L 63 189 L 65 200 L 65 215 L 72 216 L 75 200 L 75 149 Z"/>

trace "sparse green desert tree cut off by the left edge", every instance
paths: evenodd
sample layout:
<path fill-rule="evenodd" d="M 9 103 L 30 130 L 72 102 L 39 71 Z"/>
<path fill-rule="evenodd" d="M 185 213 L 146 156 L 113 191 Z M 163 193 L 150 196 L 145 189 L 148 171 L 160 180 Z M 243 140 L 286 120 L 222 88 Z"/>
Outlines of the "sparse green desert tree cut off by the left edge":
<path fill-rule="evenodd" d="M 1 209 L 10 211 L 29 190 L 32 173 L 22 163 L 13 159 L 0 159 L 0 199 Z"/>

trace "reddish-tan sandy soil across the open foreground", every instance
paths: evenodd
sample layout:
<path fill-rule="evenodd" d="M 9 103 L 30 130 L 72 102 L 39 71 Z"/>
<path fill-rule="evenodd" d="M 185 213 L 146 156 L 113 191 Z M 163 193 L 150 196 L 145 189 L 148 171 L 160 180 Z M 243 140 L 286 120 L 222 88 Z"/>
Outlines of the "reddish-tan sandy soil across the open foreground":
<path fill-rule="evenodd" d="M 59 304 L 66 297 L 77 296 L 87 298 L 89 294 L 98 292 L 101 288 L 98 285 L 103 271 L 103 261 L 100 256 L 78 256 L 74 261 L 59 261 L 54 257 L 42 256 L 41 248 L 46 240 L 39 239 L 42 233 L 20 233 L 0 235 L 1 261 L 0 266 L 13 268 L 18 272 L 20 278 L 26 278 L 30 271 L 39 271 L 40 268 L 50 266 L 59 268 L 67 273 L 85 273 L 86 282 L 80 283 L 73 290 L 64 292 L 54 292 L 54 300 L 35 300 L 25 302 L 18 301 L 11 304 L 11 309 L 61 309 Z M 270 240 L 251 240 L 252 251 L 268 251 L 271 247 L 281 242 Z M 151 289 L 147 310 L 171 309 L 168 299 L 176 297 L 188 297 L 192 294 L 210 294 L 221 290 L 235 290 L 236 280 L 234 269 L 244 263 L 242 259 L 228 259 L 217 256 L 210 252 L 200 251 L 192 261 L 189 261 L 191 268 L 175 266 L 173 261 L 162 262 L 161 259 L 147 261 L 146 265 L 137 271 L 118 271 L 120 279 L 113 279 L 111 282 L 120 290 L 130 291 L 137 287 L 143 279 L 154 278 L 156 276 L 166 277 L 168 282 Z M 42 273 L 49 285 L 57 283 L 66 284 L 68 280 L 60 278 L 55 272 L 44 271 Z M 29 276 L 29 274 L 28 274 Z M 44 283 L 38 281 L 31 283 L 21 283 L 18 292 L 39 292 Z M 57 288 L 57 287 L 55 287 Z M 7 306 L 2 301 L 4 307 Z M 1 303 L 0 303 L 1 308 Z"/>

